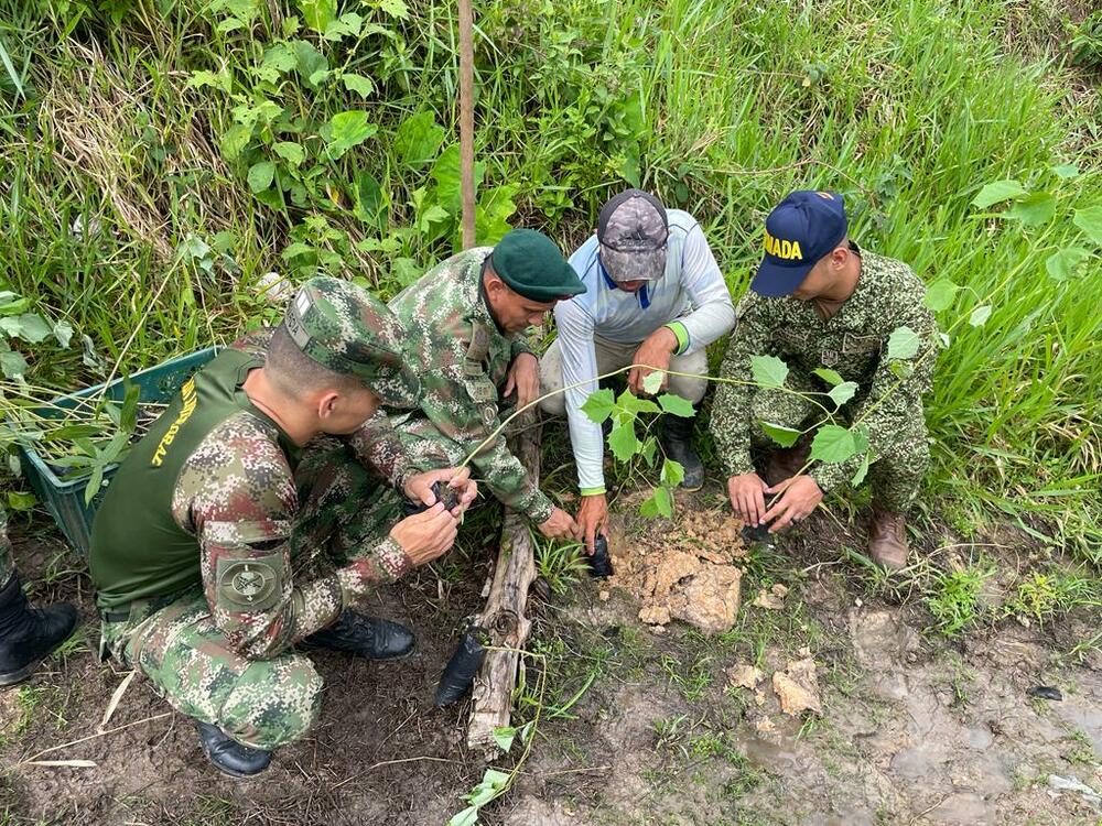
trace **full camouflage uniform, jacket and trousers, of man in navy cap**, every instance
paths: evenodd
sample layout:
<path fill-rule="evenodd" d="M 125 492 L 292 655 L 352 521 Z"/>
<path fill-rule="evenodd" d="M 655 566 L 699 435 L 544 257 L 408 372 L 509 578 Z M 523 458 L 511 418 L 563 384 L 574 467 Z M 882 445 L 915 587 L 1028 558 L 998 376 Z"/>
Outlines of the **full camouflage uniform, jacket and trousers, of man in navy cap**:
<path fill-rule="evenodd" d="M 939 347 L 933 315 L 925 306 L 922 282 L 899 261 L 861 252 L 861 279 L 836 314 L 823 320 L 812 302 L 764 298 L 747 293 L 738 304 L 738 322 L 720 374 L 752 381 L 750 357 L 774 355 L 789 367 L 785 387 L 822 393 L 830 389 L 812 373 L 828 367 L 860 385 L 843 405 L 841 417 L 868 427 L 874 464 L 868 471 L 877 502 L 904 513 L 918 493 L 929 464 L 922 394 L 930 389 Z M 900 379 L 884 354 L 888 336 L 906 326 L 921 341 L 918 355 L 903 360 L 909 374 Z M 820 396 L 828 406 L 831 402 Z M 804 430 L 822 411 L 808 399 L 781 390 L 722 383 L 712 406 L 711 430 L 728 477 L 754 472 L 752 447 L 776 447 L 760 422 Z M 854 477 L 861 457 L 820 463 L 810 476 L 829 492 Z"/>

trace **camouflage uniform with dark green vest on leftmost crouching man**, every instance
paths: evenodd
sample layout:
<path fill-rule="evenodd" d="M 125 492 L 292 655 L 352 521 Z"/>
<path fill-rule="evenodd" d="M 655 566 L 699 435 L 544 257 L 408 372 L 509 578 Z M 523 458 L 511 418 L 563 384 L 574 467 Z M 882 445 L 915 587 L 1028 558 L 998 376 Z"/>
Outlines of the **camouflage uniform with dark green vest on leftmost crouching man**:
<path fill-rule="evenodd" d="M 318 320 L 287 326 L 310 354 Z M 174 708 L 264 750 L 301 737 L 318 711 L 321 677 L 293 645 L 411 565 L 389 536 L 400 497 L 385 479 L 400 483 L 410 468 L 386 417 L 353 437 L 316 437 L 300 453 L 239 384 L 229 388 L 233 401 L 219 401 L 226 376 L 244 380 L 263 363 L 269 336 L 247 337 L 194 378 L 193 419 L 213 400 L 213 426 L 196 422 L 188 442 L 185 384 L 134 446 L 97 513 L 90 554 L 106 649 L 140 667 Z M 403 403 L 401 376 L 363 378 Z M 155 477 L 141 474 L 160 455 L 156 439 L 169 441 L 179 471 L 169 501 L 143 509 L 142 479 Z M 182 455 L 172 456 L 173 442 Z M 161 546 L 142 537 L 143 523 L 165 537 Z"/>

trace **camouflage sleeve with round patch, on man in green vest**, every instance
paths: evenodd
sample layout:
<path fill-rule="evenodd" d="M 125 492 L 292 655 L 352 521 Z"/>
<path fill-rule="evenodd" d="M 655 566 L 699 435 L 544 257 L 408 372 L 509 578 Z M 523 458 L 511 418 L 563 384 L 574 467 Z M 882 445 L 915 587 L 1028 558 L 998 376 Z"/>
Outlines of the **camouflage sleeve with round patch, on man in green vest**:
<path fill-rule="evenodd" d="M 173 514 L 199 542 L 203 587 L 228 645 L 276 656 L 325 628 L 369 583 L 409 567 L 392 540 L 328 576 L 295 585 L 289 537 L 298 511 L 291 468 L 276 438 L 241 413 L 214 428 L 181 469 Z"/>

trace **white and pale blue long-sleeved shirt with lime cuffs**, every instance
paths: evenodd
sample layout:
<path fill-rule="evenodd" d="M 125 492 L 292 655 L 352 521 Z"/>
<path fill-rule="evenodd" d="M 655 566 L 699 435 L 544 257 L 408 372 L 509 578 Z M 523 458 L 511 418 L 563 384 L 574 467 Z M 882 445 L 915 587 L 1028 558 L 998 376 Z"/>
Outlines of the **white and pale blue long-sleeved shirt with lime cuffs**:
<path fill-rule="evenodd" d="M 601 425 L 582 412 L 582 404 L 597 389 L 594 334 L 618 344 L 642 344 L 662 325 L 677 322 L 677 354 L 683 355 L 707 346 L 735 324 L 731 293 L 700 224 L 680 209 L 667 209 L 666 216 L 670 236 L 666 272 L 660 279 L 637 293 L 617 289 L 601 264 L 593 235 L 570 257 L 570 265 L 586 291 L 554 308 L 563 385 L 584 382 L 565 393 L 570 441 L 583 494 L 603 492 L 605 487 Z"/>

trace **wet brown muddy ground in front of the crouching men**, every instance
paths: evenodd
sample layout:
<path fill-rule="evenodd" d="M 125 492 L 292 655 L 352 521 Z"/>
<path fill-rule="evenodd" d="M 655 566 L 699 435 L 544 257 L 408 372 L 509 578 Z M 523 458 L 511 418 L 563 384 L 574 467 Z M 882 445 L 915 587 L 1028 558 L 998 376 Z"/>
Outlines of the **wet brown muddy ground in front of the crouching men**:
<path fill-rule="evenodd" d="M 714 509 L 719 496 L 681 497 L 682 514 Z M 677 530 L 619 517 L 614 542 Z M 417 654 L 389 665 L 316 654 L 320 725 L 261 779 L 235 782 L 208 768 L 190 722 L 140 678 L 95 737 L 125 673 L 91 653 L 83 565 L 53 534 L 15 542 L 26 578 L 48 579 L 36 597 L 75 600 L 85 626 L 83 642 L 0 693 L 0 824 L 444 824 L 482 778 L 485 762 L 464 746 L 466 708 L 436 710 L 432 693 L 454 630 L 479 606 L 491 548 L 381 595 L 372 610 L 410 623 Z M 1098 797 L 1054 789 L 1102 790 L 1102 652 L 1070 654 L 1098 633 L 1099 611 L 946 640 L 918 600 L 872 595 L 840 561 L 840 547 L 862 543 L 860 529 L 820 515 L 776 548 L 752 550 L 735 626 L 711 637 L 677 620 L 645 626 L 636 599 L 591 582 L 533 598 L 542 659 L 530 661 L 519 705 L 531 719 L 540 700 L 538 733 L 516 786 L 482 822 L 1102 823 Z M 753 604 L 778 584 L 789 588 L 779 607 Z M 809 656 L 823 714 L 789 717 L 770 677 Z M 732 684 L 741 666 L 759 669 L 760 684 Z M 1037 685 L 1063 699 L 1029 697 Z M 41 759 L 96 765 L 18 764 L 71 742 Z"/>

